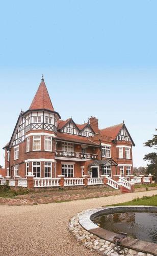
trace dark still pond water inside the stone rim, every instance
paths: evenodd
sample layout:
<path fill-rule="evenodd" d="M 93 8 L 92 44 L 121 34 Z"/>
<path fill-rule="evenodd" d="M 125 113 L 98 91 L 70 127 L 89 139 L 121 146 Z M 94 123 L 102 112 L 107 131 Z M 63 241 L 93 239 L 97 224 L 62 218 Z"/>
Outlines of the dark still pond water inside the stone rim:
<path fill-rule="evenodd" d="M 93 222 L 115 233 L 121 231 L 127 233 L 128 237 L 157 243 L 157 213 L 123 212 L 101 215 L 94 218 Z"/>

